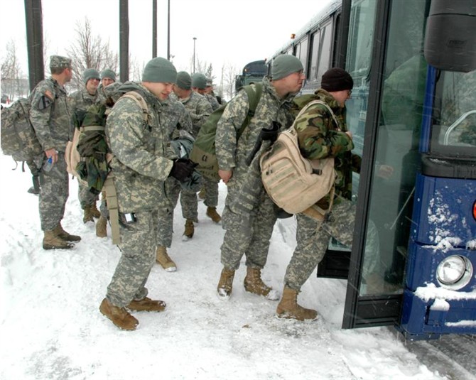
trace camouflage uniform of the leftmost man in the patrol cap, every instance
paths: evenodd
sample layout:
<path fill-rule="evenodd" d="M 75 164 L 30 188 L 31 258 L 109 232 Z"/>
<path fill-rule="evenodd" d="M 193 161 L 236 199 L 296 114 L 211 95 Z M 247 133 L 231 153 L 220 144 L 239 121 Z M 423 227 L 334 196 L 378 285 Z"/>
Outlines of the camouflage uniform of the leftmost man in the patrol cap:
<path fill-rule="evenodd" d="M 46 94 L 50 94 L 51 98 Z M 58 151 L 58 161 L 53 168 L 49 172 L 42 170 L 40 174 L 41 229 L 50 231 L 58 226 L 65 213 L 69 195 L 65 149 L 67 141 L 72 140 L 73 129 L 66 90 L 53 77 L 39 82 L 30 99 L 30 120 L 43 151 L 51 148 Z M 45 162 L 46 156 L 43 157 Z"/>

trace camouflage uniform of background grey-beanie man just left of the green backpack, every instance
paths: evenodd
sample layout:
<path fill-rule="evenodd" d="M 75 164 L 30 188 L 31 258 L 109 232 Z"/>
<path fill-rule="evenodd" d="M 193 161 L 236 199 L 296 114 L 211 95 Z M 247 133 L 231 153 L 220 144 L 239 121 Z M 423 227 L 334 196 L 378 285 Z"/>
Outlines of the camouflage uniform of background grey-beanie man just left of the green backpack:
<path fill-rule="evenodd" d="M 185 109 L 190 115 L 190 119 L 192 119 L 193 128 L 191 133 L 195 139 L 198 135 L 198 131 L 200 131 L 203 123 L 205 123 L 205 120 L 212 114 L 212 106 L 203 95 L 195 91 L 190 94 L 190 97 L 178 99 L 178 101 L 185 106 Z M 195 223 L 198 222 L 198 199 L 196 192 L 181 191 L 180 206 L 182 207 L 182 216 L 184 219 L 193 220 Z"/>

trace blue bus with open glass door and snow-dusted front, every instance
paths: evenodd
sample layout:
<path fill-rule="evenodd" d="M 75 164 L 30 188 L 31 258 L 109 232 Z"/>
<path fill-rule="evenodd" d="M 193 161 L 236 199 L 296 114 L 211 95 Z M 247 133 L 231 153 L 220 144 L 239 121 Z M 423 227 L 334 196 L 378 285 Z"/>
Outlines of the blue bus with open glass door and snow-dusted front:
<path fill-rule="evenodd" d="M 476 2 L 332 0 L 267 65 L 281 54 L 303 63 L 303 94 L 330 67 L 354 79 L 354 240 L 330 241 L 317 271 L 347 280 L 342 327 L 394 325 L 409 340 L 475 334 Z"/>

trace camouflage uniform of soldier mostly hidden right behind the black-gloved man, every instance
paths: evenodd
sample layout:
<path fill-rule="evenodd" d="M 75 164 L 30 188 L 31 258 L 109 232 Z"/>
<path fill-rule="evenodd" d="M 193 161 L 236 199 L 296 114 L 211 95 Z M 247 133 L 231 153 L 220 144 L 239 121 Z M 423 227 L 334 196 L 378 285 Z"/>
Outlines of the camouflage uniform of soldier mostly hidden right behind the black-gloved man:
<path fill-rule="evenodd" d="M 163 107 L 167 107 L 166 114 L 162 114 L 163 126 L 168 130 L 168 140 L 175 139 L 178 137 L 177 132 L 180 129 L 185 129 L 190 134 L 192 133 L 192 120 L 190 115 L 185 111 L 185 107 L 182 103 L 178 102 L 175 99 L 166 100 L 162 102 Z M 166 180 L 166 196 L 169 200 L 169 205 L 166 208 L 161 208 L 159 210 L 159 222 L 158 222 L 158 234 L 157 234 L 157 245 L 170 247 L 172 245 L 172 235 L 173 235 L 173 210 L 177 205 L 178 195 L 182 190 L 182 185 L 180 182 L 173 178 L 169 177 Z M 195 195 L 196 193 L 192 192 Z M 185 217 L 185 211 L 182 210 L 183 217 Z M 196 213 L 196 210 L 195 210 Z M 196 215 L 195 215 L 196 217 Z"/>

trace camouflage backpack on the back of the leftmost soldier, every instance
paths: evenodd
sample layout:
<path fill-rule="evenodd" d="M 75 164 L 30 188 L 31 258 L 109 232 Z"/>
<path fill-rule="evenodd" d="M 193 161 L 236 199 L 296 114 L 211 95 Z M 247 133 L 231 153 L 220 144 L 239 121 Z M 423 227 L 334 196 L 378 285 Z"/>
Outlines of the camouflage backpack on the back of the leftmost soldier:
<path fill-rule="evenodd" d="M 1 150 L 15 161 L 33 163 L 43 157 L 43 148 L 30 121 L 30 101 L 18 99 L 1 110 Z"/>

